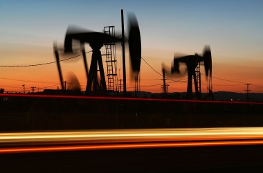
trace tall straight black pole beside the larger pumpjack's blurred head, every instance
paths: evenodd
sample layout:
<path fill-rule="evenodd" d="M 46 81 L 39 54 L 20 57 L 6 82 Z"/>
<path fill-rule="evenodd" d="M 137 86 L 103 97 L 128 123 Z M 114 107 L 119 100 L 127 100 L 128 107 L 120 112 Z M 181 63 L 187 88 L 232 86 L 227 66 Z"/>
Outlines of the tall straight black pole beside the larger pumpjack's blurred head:
<path fill-rule="evenodd" d="M 123 95 L 126 96 L 126 63 L 125 63 L 125 33 L 123 21 L 123 9 L 121 10 L 122 46 L 123 46 Z"/>

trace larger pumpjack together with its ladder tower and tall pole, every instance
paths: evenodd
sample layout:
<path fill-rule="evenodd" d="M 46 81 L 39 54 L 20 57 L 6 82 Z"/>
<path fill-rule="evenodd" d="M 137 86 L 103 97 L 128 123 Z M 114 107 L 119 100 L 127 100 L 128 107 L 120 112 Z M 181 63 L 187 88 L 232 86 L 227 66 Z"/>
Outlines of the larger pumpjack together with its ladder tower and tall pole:
<path fill-rule="evenodd" d="M 103 33 L 83 30 L 76 26 L 69 26 L 66 30 L 64 39 L 63 53 L 73 54 L 76 42 L 80 46 L 84 61 L 85 72 L 87 75 L 86 95 L 107 95 L 118 91 L 117 69 L 116 69 L 116 43 L 121 42 L 123 46 L 123 94 L 126 95 L 126 69 L 125 69 L 125 42 L 129 44 L 129 58 L 131 62 L 131 73 L 134 74 L 136 83 L 140 73 L 141 59 L 141 43 L 140 30 L 135 15 L 128 16 L 128 39 L 125 40 L 123 10 L 122 16 L 122 35 L 116 37 L 115 27 L 106 26 Z M 74 42 L 73 42 L 74 41 Z M 92 49 L 91 63 L 88 68 L 87 57 L 84 50 L 84 44 L 89 44 Z M 73 48 L 74 47 L 74 48 Z M 100 49 L 105 47 L 105 54 Z M 78 51 L 78 50 L 77 50 Z M 60 77 L 62 90 L 66 89 L 60 66 L 60 53 L 57 46 L 54 46 L 55 60 L 57 62 L 57 70 Z M 105 78 L 105 70 L 102 63 L 102 56 L 106 57 L 107 64 L 107 82 Z M 108 86 L 107 86 L 108 84 Z"/>

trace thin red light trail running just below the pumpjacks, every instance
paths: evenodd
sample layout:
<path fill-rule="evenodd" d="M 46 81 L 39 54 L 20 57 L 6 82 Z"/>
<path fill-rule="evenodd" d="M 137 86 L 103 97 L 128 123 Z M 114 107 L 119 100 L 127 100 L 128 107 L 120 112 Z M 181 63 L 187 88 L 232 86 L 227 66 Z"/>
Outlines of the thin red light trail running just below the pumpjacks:
<path fill-rule="evenodd" d="M 68 99 L 86 99 L 86 100 L 136 100 L 136 101 L 154 101 L 154 102 L 195 102 L 195 103 L 224 103 L 224 104 L 262 104 L 263 102 L 237 102 L 237 101 L 210 101 L 210 100 L 172 100 L 160 98 L 117 98 L 117 97 L 98 97 L 82 95 L 37 95 L 37 94 L 17 94 L 1 93 L 0 97 L 24 97 L 24 98 L 68 98 Z"/>

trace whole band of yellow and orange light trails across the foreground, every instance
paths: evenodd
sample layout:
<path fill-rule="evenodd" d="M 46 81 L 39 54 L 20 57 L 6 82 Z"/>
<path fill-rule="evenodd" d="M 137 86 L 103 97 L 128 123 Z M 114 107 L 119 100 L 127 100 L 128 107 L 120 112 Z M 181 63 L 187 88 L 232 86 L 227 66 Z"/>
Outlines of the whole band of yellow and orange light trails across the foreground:
<path fill-rule="evenodd" d="M 0 154 L 221 145 L 263 145 L 263 127 L 39 131 L 0 134 Z"/>

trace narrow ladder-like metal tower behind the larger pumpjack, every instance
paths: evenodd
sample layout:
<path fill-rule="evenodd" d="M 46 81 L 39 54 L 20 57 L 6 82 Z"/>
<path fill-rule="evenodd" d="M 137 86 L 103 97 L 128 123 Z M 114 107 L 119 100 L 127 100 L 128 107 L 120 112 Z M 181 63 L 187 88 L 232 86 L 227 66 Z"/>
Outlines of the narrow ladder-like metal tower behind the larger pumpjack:
<path fill-rule="evenodd" d="M 104 33 L 115 37 L 115 27 L 105 26 Z M 116 44 L 115 42 L 108 42 L 105 44 L 106 63 L 107 63 L 107 78 L 108 78 L 108 91 L 117 91 L 117 66 L 116 66 Z"/>

